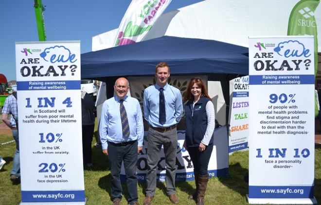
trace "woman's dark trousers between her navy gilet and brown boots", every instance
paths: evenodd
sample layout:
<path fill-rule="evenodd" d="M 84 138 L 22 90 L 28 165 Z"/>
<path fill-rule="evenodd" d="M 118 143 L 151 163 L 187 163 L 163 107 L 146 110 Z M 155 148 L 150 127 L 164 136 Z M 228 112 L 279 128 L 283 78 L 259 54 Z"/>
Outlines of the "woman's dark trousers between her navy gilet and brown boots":
<path fill-rule="evenodd" d="M 190 154 L 193 162 L 194 171 L 199 175 L 206 176 L 208 174 L 208 167 L 213 151 L 213 145 L 206 146 L 204 152 L 199 152 L 198 147 L 188 147 L 188 154 Z"/>

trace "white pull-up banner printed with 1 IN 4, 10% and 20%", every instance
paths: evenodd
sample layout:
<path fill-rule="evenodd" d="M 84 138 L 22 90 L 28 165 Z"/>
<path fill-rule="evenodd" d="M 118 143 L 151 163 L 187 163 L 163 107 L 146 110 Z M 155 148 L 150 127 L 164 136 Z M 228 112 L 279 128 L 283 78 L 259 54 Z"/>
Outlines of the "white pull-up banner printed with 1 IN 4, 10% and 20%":
<path fill-rule="evenodd" d="M 16 66 L 22 203 L 84 204 L 80 42 L 16 43 Z"/>

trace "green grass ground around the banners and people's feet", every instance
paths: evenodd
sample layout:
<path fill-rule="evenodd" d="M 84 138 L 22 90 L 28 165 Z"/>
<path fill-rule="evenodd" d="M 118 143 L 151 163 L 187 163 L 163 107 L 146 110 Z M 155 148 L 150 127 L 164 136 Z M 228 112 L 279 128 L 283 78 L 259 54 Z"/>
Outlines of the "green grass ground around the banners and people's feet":
<path fill-rule="evenodd" d="M 96 129 L 95 129 L 96 130 Z M 95 132 L 95 135 L 97 133 Z M 11 141 L 9 135 L 0 135 L 0 143 Z M 93 143 L 95 139 L 93 139 Z M 0 171 L 0 205 L 18 205 L 21 202 L 20 184 L 13 184 L 10 181 L 10 171 L 15 153 L 15 143 L 0 145 L 0 155 L 7 161 L 6 166 Z M 107 156 L 101 148 L 92 148 L 93 156 L 92 169 L 84 170 L 85 192 L 88 202 L 86 205 L 111 205 L 110 200 L 110 171 L 108 168 Z M 246 194 L 248 194 L 248 184 L 244 182 L 243 176 L 249 169 L 249 152 L 236 152 L 230 156 L 229 177 L 212 178 L 206 190 L 206 205 L 248 205 Z M 143 204 L 145 197 L 146 183 L 138 184 L 139 203 Z M 195 205 L 196 202 L 188 200 L 187 197 L 194 191 L 195 182 L 176 182 L 176 188 L 180 205 Z M 315 152 L 315 197 L 321 200 L 321 149 Z M 124 198 L 122 204 L 126 205 L 128 192 L 123 184 Z M 157 183 L 157 190 L 153 205 L 171 204 L 166 196 L 164 183 Z"/>

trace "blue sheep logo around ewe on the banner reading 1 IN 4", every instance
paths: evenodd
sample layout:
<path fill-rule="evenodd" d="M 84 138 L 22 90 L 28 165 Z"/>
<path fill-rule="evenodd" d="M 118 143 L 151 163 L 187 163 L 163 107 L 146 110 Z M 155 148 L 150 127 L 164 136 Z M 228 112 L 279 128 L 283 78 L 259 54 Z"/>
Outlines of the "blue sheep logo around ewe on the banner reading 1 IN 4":
<path fill-rule="evenodd" d="M 71 54 L 71 51 L 64 46 L 54 46 L 45 49 L 42 53 L 40 53 L 40 57 L 42 57 L 45 61 L 55 63 L 55 62 L 62 62 L 66 63 L 70 61 L 74 63 L 77 59 L 75 54 Z"/>

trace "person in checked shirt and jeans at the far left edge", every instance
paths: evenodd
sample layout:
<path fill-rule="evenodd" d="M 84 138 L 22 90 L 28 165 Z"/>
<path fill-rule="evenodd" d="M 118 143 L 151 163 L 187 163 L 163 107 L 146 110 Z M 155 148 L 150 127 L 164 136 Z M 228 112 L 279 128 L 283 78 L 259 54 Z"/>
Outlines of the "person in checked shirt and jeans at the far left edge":
<path fill-rule="evenodd" d="M 10 119 L 9 114 L 11 114 Z M 20 180 L 17 88 L 13 89 L 13 94 L 9 95 L 4 102 L 2 109 L 2 121 L 11 129 L 12 135 L 16 141 L 16 152 L 14 156 L 13 167 L 10 172 L 10 180 L 17 182 Z"/>

